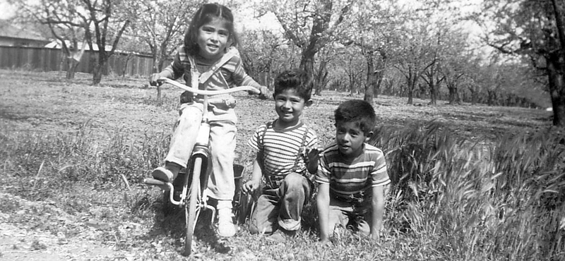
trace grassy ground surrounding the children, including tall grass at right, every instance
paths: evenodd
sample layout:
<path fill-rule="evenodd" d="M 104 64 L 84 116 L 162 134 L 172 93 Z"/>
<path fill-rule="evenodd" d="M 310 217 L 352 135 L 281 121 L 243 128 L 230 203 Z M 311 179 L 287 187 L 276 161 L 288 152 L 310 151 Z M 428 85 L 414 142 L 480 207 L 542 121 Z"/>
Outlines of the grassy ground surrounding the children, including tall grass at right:
<path fill-rule="evenodd" d="M 141 181 L 162 164 L 181 91 L 157 106 L 145 79 L 0 71 L 0 260 L 189 260 L 182 214 L 162 214 Z M 236 95 L 237 163 L 273 102 Z M 304 112 L 322 145 L 345 93 L 324 92 Z M 562 130 L 547 111 L 381 96 L 371 143 L 394 186 L 387 233 L 317 243 L 314 206 L 284 242 L 246 232 L 218 239 L 198 227 L 198 260 L 565 260 Z M 249 171 L 248 171 L 249 172 Z M 249 174 L 249 173 L 246 173 Z"/>

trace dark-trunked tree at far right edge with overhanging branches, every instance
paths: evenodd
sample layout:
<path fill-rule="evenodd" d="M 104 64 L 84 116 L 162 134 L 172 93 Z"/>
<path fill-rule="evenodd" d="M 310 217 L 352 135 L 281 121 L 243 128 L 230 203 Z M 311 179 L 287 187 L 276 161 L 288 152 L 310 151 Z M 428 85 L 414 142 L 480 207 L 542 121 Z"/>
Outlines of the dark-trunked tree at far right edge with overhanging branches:
<path fill-rule="evenodd" d="M 484 42 L 504 54 L 528 56 L 546 75 L 555 126 L 565 126 L 564 8 L 559 0 L 484 1 L 475 17 L 486 32 Z"/>

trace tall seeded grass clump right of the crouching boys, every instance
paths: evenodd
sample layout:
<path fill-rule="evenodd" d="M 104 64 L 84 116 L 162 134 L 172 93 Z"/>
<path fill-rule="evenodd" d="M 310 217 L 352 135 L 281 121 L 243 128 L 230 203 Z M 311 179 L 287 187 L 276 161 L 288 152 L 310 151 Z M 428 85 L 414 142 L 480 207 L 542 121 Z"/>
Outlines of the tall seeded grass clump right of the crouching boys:
<path fill-rule="evenodd" d="M 386 153 L 392 235 L 434 248 L 439 260 L 565 260 L 559 135 L 522 133 L 480 146 L 432 121 L 381 126 L 370 142 Z"/>

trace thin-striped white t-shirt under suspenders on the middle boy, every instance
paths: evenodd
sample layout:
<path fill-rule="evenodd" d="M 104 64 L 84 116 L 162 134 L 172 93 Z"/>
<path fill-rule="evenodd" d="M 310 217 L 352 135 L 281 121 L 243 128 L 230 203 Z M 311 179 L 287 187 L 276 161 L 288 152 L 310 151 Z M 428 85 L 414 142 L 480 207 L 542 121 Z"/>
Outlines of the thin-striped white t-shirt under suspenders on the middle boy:
<path fill-rule="evenodd" d="M 273 128 L 275 123 L 266 123 L 259 126 L 248 145 L 257 152 L 263 152 L 263 176 L 284 177 L 292 172 L 297 162 L 295 172 L 306 170 L 302 152 L 304 147 L 317 147 L 318 137 L 316 132 L 304 123 L 299 123 L 295 128 L 278 130 Z M 304 147 L 302 147 L 302 140 Z M 261 164 L 261 162 L 259 162 Z"/>

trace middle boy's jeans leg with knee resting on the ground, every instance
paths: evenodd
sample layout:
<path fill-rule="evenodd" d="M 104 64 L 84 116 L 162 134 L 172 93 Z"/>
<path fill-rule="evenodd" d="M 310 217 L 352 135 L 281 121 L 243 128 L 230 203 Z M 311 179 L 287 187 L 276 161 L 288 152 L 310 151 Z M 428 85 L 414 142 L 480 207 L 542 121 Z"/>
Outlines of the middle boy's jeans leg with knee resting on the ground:
<path fill-rule="evenodd" d="M 249 219 L 249 233 L 273 233 L 276 230 L 280 196 L 278 189 L 266 189 L 257 199 Z"/>

